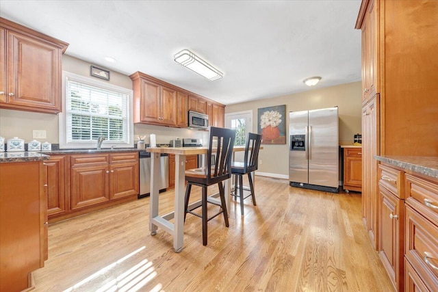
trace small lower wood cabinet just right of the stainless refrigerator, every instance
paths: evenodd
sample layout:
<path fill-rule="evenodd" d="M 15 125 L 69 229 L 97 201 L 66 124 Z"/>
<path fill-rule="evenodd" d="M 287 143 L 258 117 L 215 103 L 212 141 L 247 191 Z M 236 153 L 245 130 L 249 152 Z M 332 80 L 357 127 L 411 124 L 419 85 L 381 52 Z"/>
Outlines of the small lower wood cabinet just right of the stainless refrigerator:
<path fill-rule="evenodd" d="M 362 191 L 362 148 L 344 147 L 344 190 Z"/>

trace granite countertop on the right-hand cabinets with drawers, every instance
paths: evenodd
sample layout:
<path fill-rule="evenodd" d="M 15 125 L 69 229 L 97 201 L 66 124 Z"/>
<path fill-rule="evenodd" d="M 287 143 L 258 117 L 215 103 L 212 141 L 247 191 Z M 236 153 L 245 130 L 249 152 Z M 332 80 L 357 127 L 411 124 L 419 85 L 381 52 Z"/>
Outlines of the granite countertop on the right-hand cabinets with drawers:
<path fill-rule="evenodd" d="M 399 168 L 438 178 L 438 157 L 374 156 L 374 159 Z"/>

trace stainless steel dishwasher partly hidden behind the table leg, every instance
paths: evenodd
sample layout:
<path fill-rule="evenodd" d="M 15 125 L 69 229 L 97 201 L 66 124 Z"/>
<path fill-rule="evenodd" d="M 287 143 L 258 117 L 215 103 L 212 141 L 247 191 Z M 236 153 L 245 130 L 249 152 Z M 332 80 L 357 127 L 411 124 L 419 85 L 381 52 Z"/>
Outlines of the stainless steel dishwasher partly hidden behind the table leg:
<path fill-rule="evenodd" d="M 138 198 L 149 196 L 151 193 L 151 153 L 140 151 L 140 194 Z M 158 189 L 165 191 L 169 187 L 169 157 L 162 153 L 159 157 L 161 175 Z"/>

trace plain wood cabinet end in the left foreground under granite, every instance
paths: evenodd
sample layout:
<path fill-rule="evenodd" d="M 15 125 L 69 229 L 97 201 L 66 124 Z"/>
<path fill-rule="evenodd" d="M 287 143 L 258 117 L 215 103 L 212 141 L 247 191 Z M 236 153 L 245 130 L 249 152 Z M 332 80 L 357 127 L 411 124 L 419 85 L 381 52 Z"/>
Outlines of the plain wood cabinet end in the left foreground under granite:
<path fill-rule="evenodd" d="M 31 287 L 29 273 L 44 267 L 45 176 L 42 161 L 0 163 L 0 291 Z"/>

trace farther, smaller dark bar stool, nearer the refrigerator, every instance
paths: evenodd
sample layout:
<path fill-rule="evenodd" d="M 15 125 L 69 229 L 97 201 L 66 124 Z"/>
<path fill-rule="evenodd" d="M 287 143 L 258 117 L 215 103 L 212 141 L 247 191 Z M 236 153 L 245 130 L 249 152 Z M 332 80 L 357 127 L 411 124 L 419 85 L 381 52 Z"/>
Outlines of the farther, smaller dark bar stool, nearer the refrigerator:
<path fill-rule="evenodd" d="M 244 215 L 244 200 L 248 198 L 248 196 L 253 197 L 253 204 L 257 206 L 255 202 L 255 191 L 253 184 L 253 177 L 251 176 L 251 172 L 257 170 L 259 166 L 259 150 L 261 144 L 261 135 L 255 133 L 248 133 L 248 139 L 246 140 L 245 145 L 245 155 L 243 162 L 233 162 L 231 164 L 231 173 L 235 175 L 234 179 L 234 196 L 235 198 L 239 197 L 240 199 L 240 213 Z M 244 186 L 243 186 L 243 175 L 248 174 L 249 186 L 250 186 L 250 194 L 244 197 Z M 237 187 L 237 178 L 239 181 L 239 185 Z M 237 195 L 237 189 L 240 190 L 239 195 Z"/>

